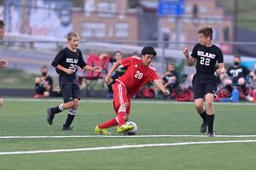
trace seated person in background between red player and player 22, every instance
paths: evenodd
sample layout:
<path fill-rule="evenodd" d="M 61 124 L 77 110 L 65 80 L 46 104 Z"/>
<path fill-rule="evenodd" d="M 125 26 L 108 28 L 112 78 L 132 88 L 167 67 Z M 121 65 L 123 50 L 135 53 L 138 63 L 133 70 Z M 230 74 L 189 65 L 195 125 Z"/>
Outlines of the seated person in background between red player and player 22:
<path fill-rule="evenodd" d="M 164 87 L 167 88 L 171 94 L 171 98 L 175 97 L 172 96 L 172 91 L 178 87 L 178 74 L 175 69 L 175 65 L 169 63 L 166 72 L 161 77 Z"/>

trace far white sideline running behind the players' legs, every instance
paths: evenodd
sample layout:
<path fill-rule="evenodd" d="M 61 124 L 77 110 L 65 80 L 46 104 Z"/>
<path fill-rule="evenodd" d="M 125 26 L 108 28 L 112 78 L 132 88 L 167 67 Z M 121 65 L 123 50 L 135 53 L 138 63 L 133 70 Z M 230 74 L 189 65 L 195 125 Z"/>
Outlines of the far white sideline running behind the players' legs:
<path fill-rule="evenodd" d="M 62 99 L 11 99 L 7 98 L 4 99 L 5 101 L 35 101 L 35 102 L 62 102 Z M 98 102 L 98 103 L 112 103 L 112 99 L 81 99 L 80 102 L 90 103 L 90 102 Z M 138 104 L 179 104 L 179 105 L 193 105 L 193 102 L 178 102 L 178 101 L 172 101 L 172 100 L 139 100 L 139 99 L 133 99 L 132 103 L 138 103 Z M 241 103 L 232 103 L 232 102 L 215 102 L 215 105 L 256 105 L 256 103 L 247 103 L 247 102 L 241 102 Z"/>

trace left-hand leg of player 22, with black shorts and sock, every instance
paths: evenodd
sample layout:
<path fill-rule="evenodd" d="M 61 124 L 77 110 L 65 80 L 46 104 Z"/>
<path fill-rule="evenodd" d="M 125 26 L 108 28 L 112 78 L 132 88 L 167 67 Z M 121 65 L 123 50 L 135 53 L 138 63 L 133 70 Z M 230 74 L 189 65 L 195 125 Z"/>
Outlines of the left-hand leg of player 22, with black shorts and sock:
<path fill-rule="evenodd" d="M 207 111 L 203 106 L 204 102 L 204 86 L 202 82 L 202 77 L 198 74 L 193 76 L 192 84 L 193 84 L 193 92 L 194 92 L 194 104 L 195 110 L 202 118 L 202 124 L 200 128 L 201 133 L 207 132 Z"/>

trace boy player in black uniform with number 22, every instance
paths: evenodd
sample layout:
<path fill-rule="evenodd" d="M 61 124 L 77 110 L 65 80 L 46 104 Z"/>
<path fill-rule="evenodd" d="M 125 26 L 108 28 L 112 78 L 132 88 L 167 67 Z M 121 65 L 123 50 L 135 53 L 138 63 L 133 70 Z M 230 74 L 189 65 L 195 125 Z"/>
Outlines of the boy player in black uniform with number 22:
<path fill-rule="evenodd" d="M 217 92 L 218 79 L 215 76 L 224 73 L 224 58 L 220 48 L 212 43 L 212 27 L 206 26 L 198 31 L 199 43 L 195 44 L 192 54 L 189 55 L 189 49 L 184 48 L 183 54 L 186 57 L 189 66 L 196 60 L 196 72 L 192 80 L 195 109 L 203 119 L 201 133 L 207 132 L 214 136 L 214 108 L 213 99 Z M 218 61 L 218 69 L 215 69 Z M 206 108 L 203 105 L 206 100 Z"/>

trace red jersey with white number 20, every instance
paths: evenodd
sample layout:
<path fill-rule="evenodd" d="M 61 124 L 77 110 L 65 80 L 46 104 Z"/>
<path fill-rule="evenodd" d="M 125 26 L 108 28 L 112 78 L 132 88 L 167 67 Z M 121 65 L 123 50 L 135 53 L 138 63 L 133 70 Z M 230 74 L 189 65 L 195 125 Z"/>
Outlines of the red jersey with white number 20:
<path fill-rule="evenodd" d="M 132 56 L 121 59 L 121 63 L 127 70 L 122 77 L 119 77 L 119 81 L 125 84 L 127 94 L 130 98 L 147 82 L 158 79 L 154 67 L 152 65 L 143 65 L 141 58 Z"/>

